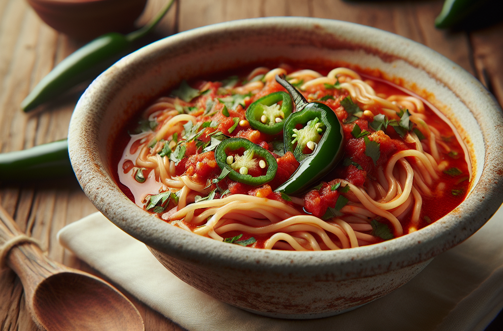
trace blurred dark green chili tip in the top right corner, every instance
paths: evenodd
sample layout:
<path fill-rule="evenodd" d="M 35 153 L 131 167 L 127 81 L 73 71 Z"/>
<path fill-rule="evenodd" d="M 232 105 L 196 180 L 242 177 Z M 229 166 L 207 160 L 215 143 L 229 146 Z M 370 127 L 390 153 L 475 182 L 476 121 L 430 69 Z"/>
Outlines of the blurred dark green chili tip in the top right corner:
<path fill-rule="evenodd" d="M 435 26 L 440 29 L 452 28 L 481 8 L 488 0 L 446 0 Z"/>

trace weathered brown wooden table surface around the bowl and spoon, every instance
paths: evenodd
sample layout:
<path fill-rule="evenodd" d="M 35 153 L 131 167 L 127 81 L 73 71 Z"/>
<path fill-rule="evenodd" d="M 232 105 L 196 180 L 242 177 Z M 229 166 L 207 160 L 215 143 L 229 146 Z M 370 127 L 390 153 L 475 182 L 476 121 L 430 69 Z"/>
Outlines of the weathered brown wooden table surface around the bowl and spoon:
<path fill-rule="evenodd" d="M 151 18 L 165 2 L 149 0 L 140 23 Z M 156 32 L 164 37 L 208 24 L 265 16 L 309 16 L 360 23 L 402 35 L 445 55 L 477 77 L 503 104 L 503 24 L 471 33 L 437 30 L 433 22 L 442 4 L 443 0 L 179 0 Z M 22 113 L 19 105 L 55 64 L 82 43 L 48 27 L 25 1 L 0 0 L 0 18 L 0 151 L 65 138 L 76 96 L 29 115 Z M 56 241 L 56 233 L 63 226 L 96 211 L 75 179 L 42 184 L 0 183 L 0 201 L 23 231 L 42 241 L 50 258 L 90 271 Z M 181 330 L 134 301 L 146 330 Z M 0 272 L 0 327 L 6 331 L 37 330 L 25 308 L 23 287 L 10 270 Z"/>

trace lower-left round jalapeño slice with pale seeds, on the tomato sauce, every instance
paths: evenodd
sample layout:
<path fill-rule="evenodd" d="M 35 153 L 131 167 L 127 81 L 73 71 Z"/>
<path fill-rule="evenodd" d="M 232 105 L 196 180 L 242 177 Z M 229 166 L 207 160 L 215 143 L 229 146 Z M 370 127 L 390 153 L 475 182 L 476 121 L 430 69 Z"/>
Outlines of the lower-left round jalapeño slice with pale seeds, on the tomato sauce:
<path fill-rule="evenodd" d="M 241 148 L 244 148 L 242 156 L 234 158 L 227 155 L 227 150 L 235 151 Z M 262 161 L 265 164 L 263 163 L 262 165 L 264 167 L 260 165 L 260 161 L 255 156 L 263 158 Z M 215 150 L 215 160 L 220 169 L 227 168 L 230 170 L 228 174 L 230 179 L 253 186 L 259 186 L 273 180 L 276 170 L 278 170 L 278 163 L 268 150 L 244 138 L 229 138 L 218 144 Z M 251 166 L 259 166 L 261 168 L 267 166 L 268 168 L 265 175 L 254 177 L 248 175 L 248 168 Z M 243 168 L 246 170 L 243 170 Z"/>

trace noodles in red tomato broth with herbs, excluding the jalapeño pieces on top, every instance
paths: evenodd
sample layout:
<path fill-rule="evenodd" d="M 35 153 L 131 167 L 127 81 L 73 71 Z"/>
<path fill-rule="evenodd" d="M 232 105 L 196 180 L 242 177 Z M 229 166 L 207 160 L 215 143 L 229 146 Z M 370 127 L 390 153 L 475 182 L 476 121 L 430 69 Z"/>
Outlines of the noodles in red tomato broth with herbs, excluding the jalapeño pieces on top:
<path fill-rule="evenodd" d="M 118 165 L 120 181 L 138 205 L 173 226 L 242 246 L 297 251 L 396 238 L 455 207 L 455 202 L 438 206 L 435 199 L 452 191 L 451 200 L 462 201 L 469 176 L 459 178 L 471 173 L 469 165 L 458 155 L 464 153 L 459 139 L 451 139 L 459 135 L 441 120 L 431 120 L 436 117 L 431 105 L 349 68 L 324 73 L 289 65 L 257 67 L 244 78 L 191 86 L 199 92 L 190 100 L 178 95 L 157 99 L 142 113 L 154 129 L 131 136 Z M 282 183 L 275 182 L 278 176 L 285 181 L 298 168 L 293 154 L 279 155 L 276 149 L 273 154 L 277 138 L 267 140 L 244 117 L 251 103 L 284 90 L 276 75 L 286 75 L 308 100 L 330 106 L 345 133 L 346 159 L 330 173 L 336 179 L 296 196 L 273 192 Z M 350 113 L 348 102 L 360 112 Z M 276 123 L 286 120 L 275 118 Z M 355 135 L 357 125 L 363 136 Z M 210 147 L 229 136 L 268 149 L 278 163 L 275 179 L 254 187 L 219 178 Z M 378 154 L 369 154 L 369 142 Z"/>

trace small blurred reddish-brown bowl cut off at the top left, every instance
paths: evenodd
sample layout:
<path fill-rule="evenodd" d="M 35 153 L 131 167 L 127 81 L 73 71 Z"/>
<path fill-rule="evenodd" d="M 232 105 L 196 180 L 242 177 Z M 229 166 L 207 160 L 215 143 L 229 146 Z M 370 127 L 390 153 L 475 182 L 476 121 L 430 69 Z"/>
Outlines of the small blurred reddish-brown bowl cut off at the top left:
<path fill-rule="evenodd" d="M 28 0 L 51 28 L 79 40 L 131 30 L 147 0 Z"/>

